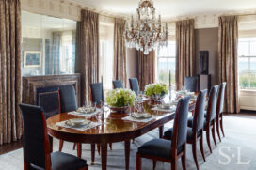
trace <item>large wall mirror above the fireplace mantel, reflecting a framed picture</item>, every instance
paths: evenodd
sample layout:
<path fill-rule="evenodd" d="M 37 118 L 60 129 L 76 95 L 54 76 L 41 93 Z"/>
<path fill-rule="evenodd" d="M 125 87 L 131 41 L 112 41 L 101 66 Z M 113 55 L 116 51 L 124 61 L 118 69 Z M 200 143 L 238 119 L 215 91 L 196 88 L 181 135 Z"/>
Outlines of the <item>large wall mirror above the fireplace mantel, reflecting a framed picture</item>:
<path fill-rule="evenodd" d="M 22 11 L 22 75 L 74 73 L 76 22 Z"/>

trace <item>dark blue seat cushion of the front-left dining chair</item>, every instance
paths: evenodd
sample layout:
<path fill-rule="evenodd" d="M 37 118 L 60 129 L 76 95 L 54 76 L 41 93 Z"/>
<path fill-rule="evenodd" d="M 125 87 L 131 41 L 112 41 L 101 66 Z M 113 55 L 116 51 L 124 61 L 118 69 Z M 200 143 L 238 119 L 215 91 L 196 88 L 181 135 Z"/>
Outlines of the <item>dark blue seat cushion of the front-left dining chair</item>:
<path fill-rule="evenodd" d="M 87 166 L 87 161 L 63 152 L 51 154 L 52 170 L 78 170 Z"/>

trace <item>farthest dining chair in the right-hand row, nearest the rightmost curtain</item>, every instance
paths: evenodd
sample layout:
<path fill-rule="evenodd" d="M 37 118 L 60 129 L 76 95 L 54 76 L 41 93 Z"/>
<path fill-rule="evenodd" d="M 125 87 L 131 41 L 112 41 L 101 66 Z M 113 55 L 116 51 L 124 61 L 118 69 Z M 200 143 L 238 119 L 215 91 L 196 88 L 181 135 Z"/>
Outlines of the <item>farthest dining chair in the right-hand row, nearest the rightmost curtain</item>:
<path fill-rule="evenodd" d="M 218 97 L 217 97 L 217 103 L 216 103 L 216 133 L 218 135 L 218 139 L 221 142 L 220 139 L 220 132 L 219 128 L 222 131 L 223 136 L 224 129 L 223 129 L 223 104 L 224 104 L 224 98 L 225 98 L 225 88 L 226 88 L 226 82 L 223 82 L 219 85 L 218 89 Z"/>

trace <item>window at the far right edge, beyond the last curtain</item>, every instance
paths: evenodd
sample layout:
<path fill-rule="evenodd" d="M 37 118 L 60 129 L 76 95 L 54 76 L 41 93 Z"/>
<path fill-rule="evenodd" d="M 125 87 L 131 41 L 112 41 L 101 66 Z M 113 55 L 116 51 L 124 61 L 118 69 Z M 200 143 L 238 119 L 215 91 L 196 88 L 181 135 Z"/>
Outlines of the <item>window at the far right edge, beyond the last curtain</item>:
<path fill-rule="evenodd" d="M 256 37 L 239 38 L 238 71 L 241 89 L 256 89 Z"/>

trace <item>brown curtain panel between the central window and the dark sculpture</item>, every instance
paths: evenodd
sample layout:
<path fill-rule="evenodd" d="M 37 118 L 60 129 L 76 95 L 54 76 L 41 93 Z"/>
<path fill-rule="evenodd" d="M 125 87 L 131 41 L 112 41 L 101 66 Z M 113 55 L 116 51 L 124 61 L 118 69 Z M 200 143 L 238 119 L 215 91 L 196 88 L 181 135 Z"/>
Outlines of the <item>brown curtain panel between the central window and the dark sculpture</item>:
<path fill-rule="evenodd" d="M 194 20 L 176 22 L 176 86 L 184 85 L 185 76 L 195 72 Z"/>

